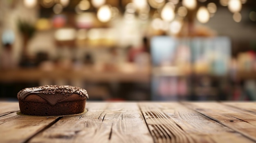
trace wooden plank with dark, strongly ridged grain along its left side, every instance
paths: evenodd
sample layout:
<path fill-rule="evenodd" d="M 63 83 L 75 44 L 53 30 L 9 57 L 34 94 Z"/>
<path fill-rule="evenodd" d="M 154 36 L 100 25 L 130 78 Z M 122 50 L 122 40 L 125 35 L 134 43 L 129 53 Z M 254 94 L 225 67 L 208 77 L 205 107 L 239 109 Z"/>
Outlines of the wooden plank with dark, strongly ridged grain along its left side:
<path fill-rule="evenodd" d="M 179 103 L 139 103 L 155 142 L 242 143 L 252 142 L 234 130 Z"/>

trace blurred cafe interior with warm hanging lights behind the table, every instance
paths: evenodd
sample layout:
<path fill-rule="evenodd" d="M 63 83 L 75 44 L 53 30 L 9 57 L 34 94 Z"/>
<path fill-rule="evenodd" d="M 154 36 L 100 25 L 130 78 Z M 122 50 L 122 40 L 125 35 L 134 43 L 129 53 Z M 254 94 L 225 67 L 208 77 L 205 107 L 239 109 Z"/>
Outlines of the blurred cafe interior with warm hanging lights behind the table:
<path fill-rule="evenodd" d="M 0 0 L 0 100 L 256 100 L 256 0 Z"/>

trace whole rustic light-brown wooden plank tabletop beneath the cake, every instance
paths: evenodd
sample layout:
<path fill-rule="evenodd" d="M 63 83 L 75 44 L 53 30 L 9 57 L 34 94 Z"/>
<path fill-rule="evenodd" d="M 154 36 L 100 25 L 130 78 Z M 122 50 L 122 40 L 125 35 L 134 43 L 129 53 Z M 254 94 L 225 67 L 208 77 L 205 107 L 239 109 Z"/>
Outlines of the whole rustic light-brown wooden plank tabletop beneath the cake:
<path fill-rule="evenodd" d="M 19 115 L 0 102 L 1 143 L 252 143 L 256 102 L 88 102 L 67 117 Z"/>

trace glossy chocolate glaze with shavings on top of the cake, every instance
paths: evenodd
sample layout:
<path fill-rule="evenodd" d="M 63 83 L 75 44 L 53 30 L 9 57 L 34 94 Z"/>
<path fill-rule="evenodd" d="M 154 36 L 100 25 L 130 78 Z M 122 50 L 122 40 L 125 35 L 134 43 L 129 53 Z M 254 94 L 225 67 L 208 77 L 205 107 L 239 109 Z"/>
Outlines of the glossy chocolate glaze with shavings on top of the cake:
<path fill-rule="evenodd" d="M 18 92 L 20 99 L 25 99 L 28 95 L 35 94 L 45 99 L 50 105 L 54 106 L 57 101 L 73 93 L 79 94 L 81 97 L 88 99 L 87 91 L 74 86 L 38 86 L 33 88 L 25 88 Z"/>

